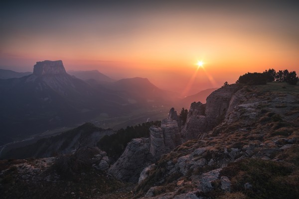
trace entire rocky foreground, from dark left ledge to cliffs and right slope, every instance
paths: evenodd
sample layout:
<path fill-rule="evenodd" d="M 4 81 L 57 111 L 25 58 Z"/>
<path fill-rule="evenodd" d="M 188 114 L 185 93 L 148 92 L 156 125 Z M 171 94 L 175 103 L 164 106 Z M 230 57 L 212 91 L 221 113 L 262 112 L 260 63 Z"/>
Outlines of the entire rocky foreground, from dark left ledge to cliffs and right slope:
<path fill-rule="evenodd" d="M 3 160 L 1 197 L 299 198 L 299 86 L 221 88 L 206 104 L 191 105 L 184 126 L 175 121 L 166 119 L 151 127 L 150 138 L 132 140 L 109 169 L 98 149 L 92 155 Z M 179 132 L 187 140 L 181 145 Z"/>

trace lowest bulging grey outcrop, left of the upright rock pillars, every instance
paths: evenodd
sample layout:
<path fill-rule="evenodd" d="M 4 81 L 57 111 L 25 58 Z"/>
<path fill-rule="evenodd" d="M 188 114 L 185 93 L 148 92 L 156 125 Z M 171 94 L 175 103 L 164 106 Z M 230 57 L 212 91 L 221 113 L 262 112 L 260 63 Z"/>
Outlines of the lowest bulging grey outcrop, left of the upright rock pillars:
<path fill-rule="evenodd" d="M 141 171 L 153 162 L 149 138 L 137 138 L 128 143 L 121 157 L 109 168 L 109 173 L 117 179 L 136 183 Z"/>

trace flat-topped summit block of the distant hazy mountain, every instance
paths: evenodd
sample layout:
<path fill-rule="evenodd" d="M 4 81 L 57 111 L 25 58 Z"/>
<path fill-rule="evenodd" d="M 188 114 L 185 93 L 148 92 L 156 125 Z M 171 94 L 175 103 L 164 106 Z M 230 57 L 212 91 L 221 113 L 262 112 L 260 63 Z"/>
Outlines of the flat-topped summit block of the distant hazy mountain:
<path fill-rule="evenodd" d="M 54 74 L 66 74 L 62 61 L 42 61 L 36 62 L 33 68 L 33 74 L 36 76 L 41 75 L 54 75 Z"/>

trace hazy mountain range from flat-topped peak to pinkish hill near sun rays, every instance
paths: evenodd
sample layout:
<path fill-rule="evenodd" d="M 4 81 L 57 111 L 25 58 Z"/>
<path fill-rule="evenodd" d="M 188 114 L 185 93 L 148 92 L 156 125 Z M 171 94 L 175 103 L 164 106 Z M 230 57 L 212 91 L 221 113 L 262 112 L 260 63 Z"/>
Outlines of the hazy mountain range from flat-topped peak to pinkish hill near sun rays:
<path fill-rule="evenodd" d="M 146 78 L 91 85 L 67 74 L 61 60 L 37 62 L 29 76 L 0 80 L 0 145 L 100 115 L 150 111 L 169 99 Z"/>

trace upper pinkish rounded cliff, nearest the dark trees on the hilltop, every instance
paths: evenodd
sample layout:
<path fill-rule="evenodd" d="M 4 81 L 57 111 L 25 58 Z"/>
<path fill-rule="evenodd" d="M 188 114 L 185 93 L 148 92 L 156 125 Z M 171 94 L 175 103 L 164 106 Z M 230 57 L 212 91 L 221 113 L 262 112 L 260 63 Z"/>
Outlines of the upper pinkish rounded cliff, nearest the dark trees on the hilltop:
<path fill-rule="evenodd" d="M 233 108 L 240 98 L 235 96 L 239 85 L 229 85 L 214 91 L 207 98 L 207 103 L 193 102 L 190 106 L 187 121 L 181 131 L 183 140 L 197 138 L 203 132 L 217 126 Z"/>

